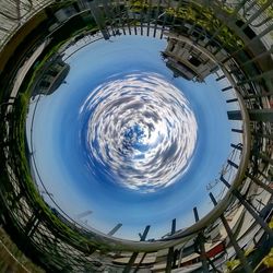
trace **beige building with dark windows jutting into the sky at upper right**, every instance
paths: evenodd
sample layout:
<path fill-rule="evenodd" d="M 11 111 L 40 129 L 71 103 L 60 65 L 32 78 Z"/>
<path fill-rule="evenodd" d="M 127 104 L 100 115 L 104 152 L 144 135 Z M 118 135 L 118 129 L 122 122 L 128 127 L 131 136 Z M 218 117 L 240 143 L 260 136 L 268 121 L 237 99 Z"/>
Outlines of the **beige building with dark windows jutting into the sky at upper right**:
<path fill-rule="evenodd" d="M 212 73 L 215 62 L 188 43 L 183 36 L 174 33 L 168 33 L 167 36 L 168 46 L 163 57 L 167 60 L 166 66 L 174 71 L 174 75 L 203 82 Z"/>

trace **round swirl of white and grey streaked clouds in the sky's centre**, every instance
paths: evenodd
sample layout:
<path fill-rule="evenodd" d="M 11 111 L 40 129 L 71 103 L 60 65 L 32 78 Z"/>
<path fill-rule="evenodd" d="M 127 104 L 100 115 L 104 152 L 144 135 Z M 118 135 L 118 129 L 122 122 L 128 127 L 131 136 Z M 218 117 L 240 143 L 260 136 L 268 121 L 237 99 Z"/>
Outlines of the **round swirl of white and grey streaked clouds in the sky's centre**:
<path fill-rule="evenodd" d="M 97 86 L 80 110 L 88 168 L 103 180 L 154 192 L 186 173 L 198 124 L 181 91 L 162 75 L 134 72 Z M 97 171 L 99 168 L 99 171 Z"/>

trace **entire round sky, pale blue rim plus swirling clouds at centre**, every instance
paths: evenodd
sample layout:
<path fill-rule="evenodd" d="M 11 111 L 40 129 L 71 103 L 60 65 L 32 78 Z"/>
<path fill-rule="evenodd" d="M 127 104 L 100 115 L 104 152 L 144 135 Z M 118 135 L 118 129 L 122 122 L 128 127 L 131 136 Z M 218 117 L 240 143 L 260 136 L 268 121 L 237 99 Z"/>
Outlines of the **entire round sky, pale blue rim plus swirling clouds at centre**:
<path fill-rule="evenodd" d="M 66 82 L 32 99 L 26 122 L 34 177 L 50 206 L 43 187 L 71 218 L 103 233 L 122 223 L 115 236 L 132 240 L 146 225 L 147 239 L 161 238 L 173 218 L 177 229 L 190 226 L 193 206 L 200 217 L 212 210 L 206 186 L 238 141 L 226 114 L 232 95 L 215 75 L 174 78 L 161 57 L 166 45 L 128 35 L 67 49 Z"/>

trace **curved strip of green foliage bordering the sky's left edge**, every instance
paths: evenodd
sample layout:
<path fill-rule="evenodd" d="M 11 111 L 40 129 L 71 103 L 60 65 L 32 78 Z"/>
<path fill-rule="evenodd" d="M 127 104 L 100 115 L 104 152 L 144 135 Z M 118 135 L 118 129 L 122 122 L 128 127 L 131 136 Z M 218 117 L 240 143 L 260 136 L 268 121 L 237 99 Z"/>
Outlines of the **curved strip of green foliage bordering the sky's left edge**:
<path fill-rule="evenodd" d="M 90 29 L 96 29 L 96 28 L 92 27 L 91 25 L 87 25 L 86 27 L 81 29 L 81 32 L 86 32 Z M 25 143 L 25 120 L 28 111 L 28 102 L 32 96 L 35 82 L 37 78 L 39 78 L 40 74 L 43 74 L 43 70 L 46 62 L 50 58 L 52 58 L 56 54 L 59 52 L 64 43 L 67 43 L 69 39 L 71 39 L 81 32 L 76 33 L 74 32 L 68 39 L 51 46 L 48 52 L 44 54 L 44 57 L 41 57 L 41 59 L 36 62 L 36 66 L 33 67 L 32 74 L 28 75 L 26 79 L 28 83 L 22 85 L 19 96 L 15 99 L 14 105 L 12 107 L 13 112 L 12 112 L 12 122 L 10 124 L 11 126 L 10 131 L 12 133 L 11 139 L 13 140 L 13 144 L 11 145 L 12 151 L 10 151 L 11 152 L 10 154 L 13 156 L 14 161 L 13 168 L 15 169 L 16 177 L 20 178 L 17 179 L 16 183 L 24 191 L 25 198 L 27 200 L 27 206 L 29 206 L 31 210 L 38 209 L 39 211 L 41 211 L 43 219 L 46 221 L 49 226 L 54 226 L 55 229 L 59 230 L 59 234 L 64 236 L 64 238 L 69 240 L 69 244 L 71 244 L 72 246 L 76 246 L 76 248 L 83 248 L 86 250 L 86 246 L 92 245 L 92 242 L 84 235 L 82 235 L 81 232 L 72 224 L 64 223 L 66 221 L 63 222 L 60 217 L 58 217 L 40 197 L 31 176 L 28 166 L 28 154 L 26 152 L 27 149 Z M 5 180 L 8 186 L 12 186 L 8 177 Z M 7 186 L 4 187 L 5 189 L 8 189 Z M 12 200 L 14 198 L 12 195 L 14 194 L 13 190 L 14 189 L 10 190 L 11 193 L 9 193 L 10 195 L 7 195 L 7 200 Z M 14 206 L 13 214 L 15 215 L 15 217 L 21 217 L 20 216 L 21 205 L 22 204 L 19 201 Z M 45 244 L 51 244 L 51 242 L 45 242 Z"/>

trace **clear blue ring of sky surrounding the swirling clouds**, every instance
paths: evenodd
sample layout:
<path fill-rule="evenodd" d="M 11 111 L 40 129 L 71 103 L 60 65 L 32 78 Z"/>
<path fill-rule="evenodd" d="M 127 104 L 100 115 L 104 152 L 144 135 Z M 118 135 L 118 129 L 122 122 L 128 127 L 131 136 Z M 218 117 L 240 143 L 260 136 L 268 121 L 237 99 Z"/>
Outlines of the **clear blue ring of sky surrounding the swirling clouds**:
<path fill-rule="evenodd" d="M 84 219 L 105 233 L 122 223 L 117 237 L 138 240 L 138 233 L 152 225 L 147 237 L 159 238 L 170 230 L 173 218 L 177 218 L 178 229 L 185 228 L 193 223 L 193 206 L 202 217 L 212 209 L 205 186 L 218 177 L 230 153 L 233 136 L 222 86 L 214 75 L 202 84 L 174 79 L 159 55 L 165 47 L 165 39 L 144 36 L 120 36 L 83 47 L 67 60 L 67 83 L 40 97 L 35 111 L 33 156 L 44 185 L 72 218 L 91 210 L 93 213 Z M 157 73 L 180 90 L 198 123 L 198 140 L 187 173 L 169 187 L 145 194 L 106 183 L 92 170 L 88 173 L 79 141 L 79 112 L 86 97 L 114 74 L 133 71 Z M 28 142 L 34 105 L 27 119 Z M 40 185 L 37 174 L 36 180 Z"/>

